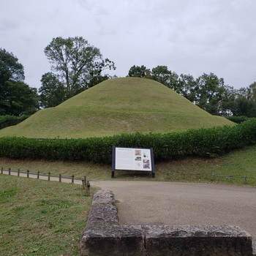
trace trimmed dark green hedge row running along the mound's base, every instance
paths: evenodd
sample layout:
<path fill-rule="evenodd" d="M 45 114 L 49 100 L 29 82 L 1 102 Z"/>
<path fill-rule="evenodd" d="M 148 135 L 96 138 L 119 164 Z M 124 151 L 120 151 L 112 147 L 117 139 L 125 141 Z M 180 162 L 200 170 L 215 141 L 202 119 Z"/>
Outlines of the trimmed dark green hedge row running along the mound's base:
<path fill-rule="evenodd" d="M 234 127 L 190 129 L 180 133 L 122 134 L 105 138 L 0 138 L 0 156 L 109 164 L 112 146 L 154 148 L 155 161 L 186 157 L 214 157 L 256 143 L 256 118 Z"/>

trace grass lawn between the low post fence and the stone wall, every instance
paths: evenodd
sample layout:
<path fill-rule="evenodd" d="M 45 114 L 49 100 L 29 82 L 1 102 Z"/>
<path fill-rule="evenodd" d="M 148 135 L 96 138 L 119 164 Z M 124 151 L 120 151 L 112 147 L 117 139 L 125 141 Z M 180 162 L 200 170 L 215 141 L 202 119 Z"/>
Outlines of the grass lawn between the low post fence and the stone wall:
<path fill-rule="evenodd" d="M 0 204 L 0 255 L 79 255 L 91 208 L 83 187 L 0 175 Z"/>

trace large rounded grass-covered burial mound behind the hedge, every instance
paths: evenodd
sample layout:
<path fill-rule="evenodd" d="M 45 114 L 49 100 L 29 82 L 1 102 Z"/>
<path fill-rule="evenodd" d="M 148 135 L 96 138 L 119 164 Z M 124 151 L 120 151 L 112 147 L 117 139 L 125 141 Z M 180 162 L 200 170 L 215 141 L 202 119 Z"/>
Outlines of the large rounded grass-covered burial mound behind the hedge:
<path fill-rule="evenodd" d="M 176 132 L 233 125 L 212 116 L 175 91 L 145 78 L 115 78 L 39 110 L 0 137 L 89 138 L 123 132 Z"/>

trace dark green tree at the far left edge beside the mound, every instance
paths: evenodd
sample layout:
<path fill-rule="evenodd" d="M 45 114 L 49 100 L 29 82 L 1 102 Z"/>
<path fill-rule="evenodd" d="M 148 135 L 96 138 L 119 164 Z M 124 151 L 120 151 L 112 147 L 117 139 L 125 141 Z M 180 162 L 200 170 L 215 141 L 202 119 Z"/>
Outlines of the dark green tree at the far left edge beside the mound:
<path fill-rule="evenodd" d="M 0 48 L 0 115 L 29 115 L 39 108 L 37 89 L 30 88 L 24 79 L 23 65 Z"/>

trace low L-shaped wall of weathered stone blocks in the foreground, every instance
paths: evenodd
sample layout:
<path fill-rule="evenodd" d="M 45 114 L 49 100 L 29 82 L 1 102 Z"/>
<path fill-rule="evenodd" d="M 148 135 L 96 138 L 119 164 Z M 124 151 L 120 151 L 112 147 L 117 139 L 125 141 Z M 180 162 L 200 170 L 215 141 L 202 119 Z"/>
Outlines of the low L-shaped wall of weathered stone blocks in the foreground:
<path fill-rule="evenodd" d="M 119 225 L 110 190 L 95 195 L 80 240 L 85 256 L 252 256 L 252 237 L 233 225 Z"/>

